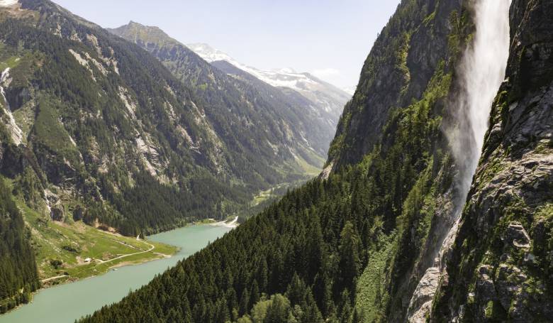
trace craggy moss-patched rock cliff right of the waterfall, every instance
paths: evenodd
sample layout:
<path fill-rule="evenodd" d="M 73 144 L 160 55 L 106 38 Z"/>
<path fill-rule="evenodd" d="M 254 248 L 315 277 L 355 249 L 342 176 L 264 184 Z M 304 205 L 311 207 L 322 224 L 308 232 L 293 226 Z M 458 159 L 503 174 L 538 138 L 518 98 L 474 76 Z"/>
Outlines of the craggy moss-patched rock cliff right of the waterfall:
<path fill-rule="evenodd" d="M 553 315 L 553 3 L 515 0 L 506 80 L 432 321 Z"/>

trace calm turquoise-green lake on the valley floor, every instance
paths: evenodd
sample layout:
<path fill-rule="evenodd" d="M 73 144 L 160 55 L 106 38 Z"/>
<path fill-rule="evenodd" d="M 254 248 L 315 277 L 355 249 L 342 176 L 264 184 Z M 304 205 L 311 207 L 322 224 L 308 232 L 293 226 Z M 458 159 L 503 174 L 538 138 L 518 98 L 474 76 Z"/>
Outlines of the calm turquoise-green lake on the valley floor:
<path fill-rule="evenodd" d="M 32 303 L 9 314 L 0 315 L 0 323 L 72 323 L 104 305 L 118 302 L 130 290 L 147 284 L 158 273 L 199 251 L 228 231 L 230 229 L 224 226 L 196 225 L 150 236 L 150 240 L 178 246 L 181 250 L 172 258 L 128 265 L 111 270 L 105 275 L 41 290 L 35 294 Z"/>

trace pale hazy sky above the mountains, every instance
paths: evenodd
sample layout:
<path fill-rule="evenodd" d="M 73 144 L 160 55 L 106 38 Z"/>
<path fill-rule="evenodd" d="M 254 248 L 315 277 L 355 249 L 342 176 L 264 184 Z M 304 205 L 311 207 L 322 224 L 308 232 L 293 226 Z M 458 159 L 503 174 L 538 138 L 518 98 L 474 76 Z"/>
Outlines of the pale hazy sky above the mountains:
<path fill-rule="evenodd" d="M 354 89 L 377 33 L 399 0 L 53 0 L 102 27 L 158 26 L 243 64 L 291 67 Z"/>

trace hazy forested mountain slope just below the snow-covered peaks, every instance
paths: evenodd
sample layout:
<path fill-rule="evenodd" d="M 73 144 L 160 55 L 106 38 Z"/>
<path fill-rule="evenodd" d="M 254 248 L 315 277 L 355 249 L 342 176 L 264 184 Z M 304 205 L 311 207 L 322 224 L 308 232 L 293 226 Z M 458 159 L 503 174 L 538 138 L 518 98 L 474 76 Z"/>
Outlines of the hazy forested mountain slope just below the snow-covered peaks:
<path fill-rule="evenodd" d="M 316 118 L 310 106 L 291 102 L 267 84 L 254 86 L 226 75 L 157 27 L 131 22 L 111 32 L 155 55 L 204 102 L 208 120 L 235 147 L 236 158 L 253 158 L 273 168 L 294 165 L 296 158 L 322 165 L 335 128 Z"/>

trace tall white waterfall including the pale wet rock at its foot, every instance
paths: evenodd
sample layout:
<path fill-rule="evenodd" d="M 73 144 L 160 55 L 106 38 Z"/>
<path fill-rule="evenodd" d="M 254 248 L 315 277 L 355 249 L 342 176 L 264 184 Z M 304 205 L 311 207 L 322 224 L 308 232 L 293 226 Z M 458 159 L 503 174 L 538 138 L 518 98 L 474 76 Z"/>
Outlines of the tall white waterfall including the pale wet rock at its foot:
<path fill-rule="evenodd" d="M 451 221 L 438 229 L 437 246 L 431 251 L 434 267 L 426 270 L 420 279 L 408 311 L 409 322 L 425 322 L 432 305 L 437 282 L 445 270 L 445 253 L 451 248 L 457 226 L 466 202 L 472 177 L 476 172 L 488 118 L 498 89 L 505 78 L 509 54 L 510 0 L 474 1 L 476 33 L 467 48 L 458 70 L 461 93 L 457 98 L 457 131 L 448 133 L 449 143 L 459 168 L 455 178 L 457 198 L 450 213 Z"/>

